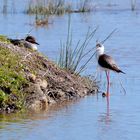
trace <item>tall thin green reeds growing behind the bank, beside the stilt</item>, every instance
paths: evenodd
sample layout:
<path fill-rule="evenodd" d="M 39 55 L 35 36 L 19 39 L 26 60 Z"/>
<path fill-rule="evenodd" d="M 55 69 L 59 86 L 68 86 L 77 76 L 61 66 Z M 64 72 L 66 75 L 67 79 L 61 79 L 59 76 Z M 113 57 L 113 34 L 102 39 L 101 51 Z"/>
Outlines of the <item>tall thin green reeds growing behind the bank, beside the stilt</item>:
<path fill-rule="evenodd" d="M 90 31 L 89 29 L 84 40 L 79 40 L 75 44 L 75 47 L 73 47 L 73 38 L 69 19 L 67 41 L 66 43 L 61 43 L 58 65 L 71 73 L 80 74 L 83 72 L 86 69 L 87 64 L 95 55 L 92 51 L 93 49 L 87 51 L 87 46 L 94 37 L 96 31 L 97 28 L 93 31 Z M 83 60 L 84 63 L 81 64 Z"/>

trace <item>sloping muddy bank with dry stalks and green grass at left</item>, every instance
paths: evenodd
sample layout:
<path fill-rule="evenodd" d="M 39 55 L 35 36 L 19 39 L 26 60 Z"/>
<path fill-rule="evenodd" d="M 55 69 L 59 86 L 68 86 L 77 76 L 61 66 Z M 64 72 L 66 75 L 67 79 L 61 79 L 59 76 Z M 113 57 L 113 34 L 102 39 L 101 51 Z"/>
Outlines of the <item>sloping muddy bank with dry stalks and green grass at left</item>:
<path fill-rule="evenodd" d="M 0 51 L 1 56 L 7 55 L 5 60 L 0 61 L 0 73 L 2 67 L 3 71 L 7 69 L 14 72 L 5 79 L 4 84 L 0 83 L 1 112 L 13 112 L 23 108 L 32 111 L 45 110 L 52 104 L 84 97 L 97 91 L 94 81 L 61 69 L 37 51 L 3 41 L 0 42 L 0 50 L 8 52 L 1 54 Z M 11 79 L 14 82 L 7 85 L 6 80 Z M 17 88 L 16 91 L 13 85 Z"/>

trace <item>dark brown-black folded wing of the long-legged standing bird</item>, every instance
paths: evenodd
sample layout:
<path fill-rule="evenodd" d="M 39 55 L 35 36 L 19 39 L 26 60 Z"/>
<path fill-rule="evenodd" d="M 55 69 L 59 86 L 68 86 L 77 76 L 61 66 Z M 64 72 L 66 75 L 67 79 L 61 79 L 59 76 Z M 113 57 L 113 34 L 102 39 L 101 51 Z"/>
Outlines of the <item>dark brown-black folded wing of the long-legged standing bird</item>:
<path fill-rule="evenodd" d="M 118 73 L 124 73 L 122 70 L 119 69 L 113 58 L 109 55 L 102 54 L 99 56 L 98 63 L 101 67 L 113 70 Z M 124 73 L 125 74 L 125 73 Z"/>

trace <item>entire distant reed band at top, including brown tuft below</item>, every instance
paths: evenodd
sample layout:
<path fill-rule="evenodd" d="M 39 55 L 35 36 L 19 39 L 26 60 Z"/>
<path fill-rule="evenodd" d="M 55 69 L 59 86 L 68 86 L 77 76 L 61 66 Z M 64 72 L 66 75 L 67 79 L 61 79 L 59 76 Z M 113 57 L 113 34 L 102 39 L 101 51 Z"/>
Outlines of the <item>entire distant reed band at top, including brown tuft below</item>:
<path fill-rule="evenodd" d="M 90 12 L 90 0 L 81 0 L 74 9 L 72 3 L 65 0 L 29 0 L 27 14 L 35 14 L 35 24 L 44 26 L 49 24 L 50 15 L 63 15 L 65 13 Z"/>

